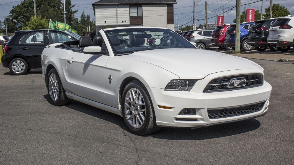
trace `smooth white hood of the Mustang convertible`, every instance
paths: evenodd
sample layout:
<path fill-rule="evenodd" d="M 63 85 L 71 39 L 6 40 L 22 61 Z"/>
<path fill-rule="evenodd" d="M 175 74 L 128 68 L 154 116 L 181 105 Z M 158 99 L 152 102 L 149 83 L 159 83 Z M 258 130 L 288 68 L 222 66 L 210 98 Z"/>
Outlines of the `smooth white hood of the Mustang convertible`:
<path fill-rule="evenodd" d="M 216 72 L 261 68 L 258 64 L 244 58 L 191 48 L 145 50 L 120 57 L 156 65 L 181 79 L 201 79 Z"/>

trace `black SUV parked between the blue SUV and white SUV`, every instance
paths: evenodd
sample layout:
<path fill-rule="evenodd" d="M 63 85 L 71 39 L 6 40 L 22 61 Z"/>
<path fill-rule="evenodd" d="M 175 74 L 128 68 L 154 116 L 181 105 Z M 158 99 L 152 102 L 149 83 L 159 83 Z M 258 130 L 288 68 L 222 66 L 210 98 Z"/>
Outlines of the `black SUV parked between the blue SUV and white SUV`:
<path fill-rule="evenodd" d="M 254 46 L 258 51 L 264 51 L 268 48 L 269 28 L 276 21 L 276 18 L 254 21 L 254 24 L 248 31 L 247 44 Z M 275 46 L 269 46 L 270 50 L 277 51 Z"/>

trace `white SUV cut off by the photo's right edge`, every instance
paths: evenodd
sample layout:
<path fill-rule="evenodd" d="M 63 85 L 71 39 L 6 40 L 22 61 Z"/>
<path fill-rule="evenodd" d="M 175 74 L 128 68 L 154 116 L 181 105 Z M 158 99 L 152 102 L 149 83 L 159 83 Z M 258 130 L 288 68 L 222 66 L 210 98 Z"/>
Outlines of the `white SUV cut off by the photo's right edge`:
<path fill-rule="evenodd" d="M 278 18 L 270 27 L 268 43 L 279 51 L 288 51 L 294 43 L 294 16 Z"/>

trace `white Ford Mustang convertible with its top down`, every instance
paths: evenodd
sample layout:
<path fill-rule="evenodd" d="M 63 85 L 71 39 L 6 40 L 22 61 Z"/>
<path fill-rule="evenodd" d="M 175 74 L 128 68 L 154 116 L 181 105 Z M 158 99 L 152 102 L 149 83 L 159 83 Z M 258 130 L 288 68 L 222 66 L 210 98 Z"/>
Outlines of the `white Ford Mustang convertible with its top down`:
<path fill-rule="evenodd" d="M 50 102 L 77 100 L 121 115 L 135 134 L 265 115 L 271 85 L 258 64 L 199 50 L 168 28 L 101 29 L 42 53 Z"/>

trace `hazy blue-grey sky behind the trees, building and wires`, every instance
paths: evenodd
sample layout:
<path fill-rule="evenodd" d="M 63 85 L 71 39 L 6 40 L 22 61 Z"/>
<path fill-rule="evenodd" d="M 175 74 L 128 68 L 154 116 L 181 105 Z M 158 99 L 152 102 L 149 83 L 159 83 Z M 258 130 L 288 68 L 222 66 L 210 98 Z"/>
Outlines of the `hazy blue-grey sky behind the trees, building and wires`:
<path fill-rule="evenodd" d="M 17 1 L 17 2 L 14 2 Z M 38 1 L 38 0 L 37 0 Z M 63 0 L 62 0 L 63 1 Z M 72 4 L 76 4 L 76 7 L 74 7 L 74 10 L 78 10 L 77 16 L 80 16 L 82 11 L 85 12 L 85 14 L 90 14 L 91 19 L 94 18 L 94 11 L 92 9 L 92 3 L 96 2 L 98 0 L 71 0 Z M 231 6 L 236 5 L 235 0 L 195 0 L 195 2 L 198 3 L 195 6 L 195 18 L 199 19 L 200 21 L 196 21 L 196 26 L 198 26 L 199 23 L 204 23 L 205 20 L 205 1 L 208 3 L 208 18 L 215 16 L 216 14 L 223 13 L 223 6 L 225 7 L 225 11 L 231 9 Z M 252 2 L 256 2 L 259 0 L 241 0 L 242 4 L 248 4 Z M 12 3 L 9 3 L 12 2 Z M 4 4 L 8 3 L 8 4 Z M 18 0 L 0 0 L 0 19 L 3 21 L 5 16 L 9 15 L 9 11 L 12 9 L 12 6 L 16 6 L 20 3 Z M 294 3 L 293 0 L 273 0 L 273 4 L 281 4 L 285 6 L 292 15 L 294 15 Z M 269 0 L 263 0 L 263 13 L 264 9 L 268 7 L 270 4 Z M 254 8 L 255 10 L 260 10 L 261 8 L 261 1 L 256 2 L 249 5 L 243 5 L 241 6 L 241 11 L 244 10 L 244 7 L 246 8 Z M 184 25 L 191 21 L 191 16 L 193 16 L 193 0 L 177 0 L 177 4 L 174 5 L 174 21 L 175 24 L 178 21 L 179 25 Z M 225 12 L 224 14 L 224 22 L 225 23 L 232 23 L 233 19 L 236 15 L 236 8 L 233 8 L 232 10 L 229 10 Z M 208 19 L 208 23 L 215 23 L 215 17 Z M 188 23 L 188 25 L 191 25 L 191 23 Z"/>

